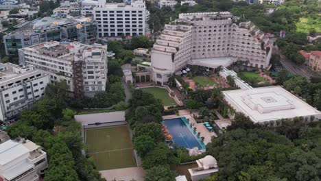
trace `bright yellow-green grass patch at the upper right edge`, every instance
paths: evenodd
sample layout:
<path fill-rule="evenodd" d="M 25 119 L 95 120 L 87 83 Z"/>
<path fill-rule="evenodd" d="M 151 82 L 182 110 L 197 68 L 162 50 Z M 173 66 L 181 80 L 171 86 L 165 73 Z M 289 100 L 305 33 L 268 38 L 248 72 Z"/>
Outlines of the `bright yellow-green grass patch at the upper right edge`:
<path fill-rule="evenodd" d="M 296 23 L 296 31 L 309 34 L 311 29 L 316 29 L 316 32 L 321 32 L 321 16 L 318 19 L 300 18 Z"/>

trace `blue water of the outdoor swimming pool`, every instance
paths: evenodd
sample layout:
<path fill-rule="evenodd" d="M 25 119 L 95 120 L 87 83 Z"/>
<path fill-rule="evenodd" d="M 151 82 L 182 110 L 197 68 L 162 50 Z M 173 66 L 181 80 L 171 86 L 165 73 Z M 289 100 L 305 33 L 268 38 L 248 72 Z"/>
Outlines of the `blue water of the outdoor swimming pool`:
<path fill-rule="evenodd" d="M 206 149 L 204 143 L 198 138 L 197 133 L 193 133 L 192 128 L 189 128 L 182 118 L 166 119 L 163 124 L 167 126 L 169 134 L 173 136 L 173 141 L 178 147 Z"/>

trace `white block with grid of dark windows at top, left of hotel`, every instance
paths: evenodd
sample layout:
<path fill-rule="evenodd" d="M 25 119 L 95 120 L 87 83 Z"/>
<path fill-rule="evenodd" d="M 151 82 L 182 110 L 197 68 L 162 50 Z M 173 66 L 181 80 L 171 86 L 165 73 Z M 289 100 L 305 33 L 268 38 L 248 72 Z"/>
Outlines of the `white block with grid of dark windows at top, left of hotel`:
<path fill-rule="evenodd" d="M 147 14 L 143 0 L 133 0 L 131 4 L 99 0 L 93 9 L 99 37 L 145 35 Z"/>

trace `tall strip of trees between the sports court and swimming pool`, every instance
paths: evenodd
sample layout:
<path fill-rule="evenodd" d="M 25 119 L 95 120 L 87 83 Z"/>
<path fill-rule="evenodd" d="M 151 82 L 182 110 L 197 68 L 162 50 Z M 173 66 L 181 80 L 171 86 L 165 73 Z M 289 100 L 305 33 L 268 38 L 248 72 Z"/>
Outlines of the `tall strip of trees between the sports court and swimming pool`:
<path fill-rule="evenodd" d="M 134 149 L 143 160 L 143 168 L 147 169 L 145 180 L 163 178 L 175 180 L 175 174 L 169 165 L 180 162 L 178 152 L 169 149 L 165 144 L 165 136 L 161 130 L 163 105 L 150 93 L 135 89 L 130 99 L 130 111 L 126 119 L 133 130 Z M 162 171 L 155 172 L 154 170 Z"/>

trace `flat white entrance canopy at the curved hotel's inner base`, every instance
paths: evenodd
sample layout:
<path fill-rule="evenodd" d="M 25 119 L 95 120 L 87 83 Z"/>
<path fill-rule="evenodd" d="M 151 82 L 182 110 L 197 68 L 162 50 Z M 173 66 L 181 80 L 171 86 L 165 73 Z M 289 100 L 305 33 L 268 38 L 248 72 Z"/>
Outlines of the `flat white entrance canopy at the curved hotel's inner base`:
<path fill-rule="evenodd" d="M 235 61 L 237 61 L 237 59 L 233 57 L 195 58 L 191 60 L 191 64 L 215 69 L 219 66 L 228 67 Z"/>

